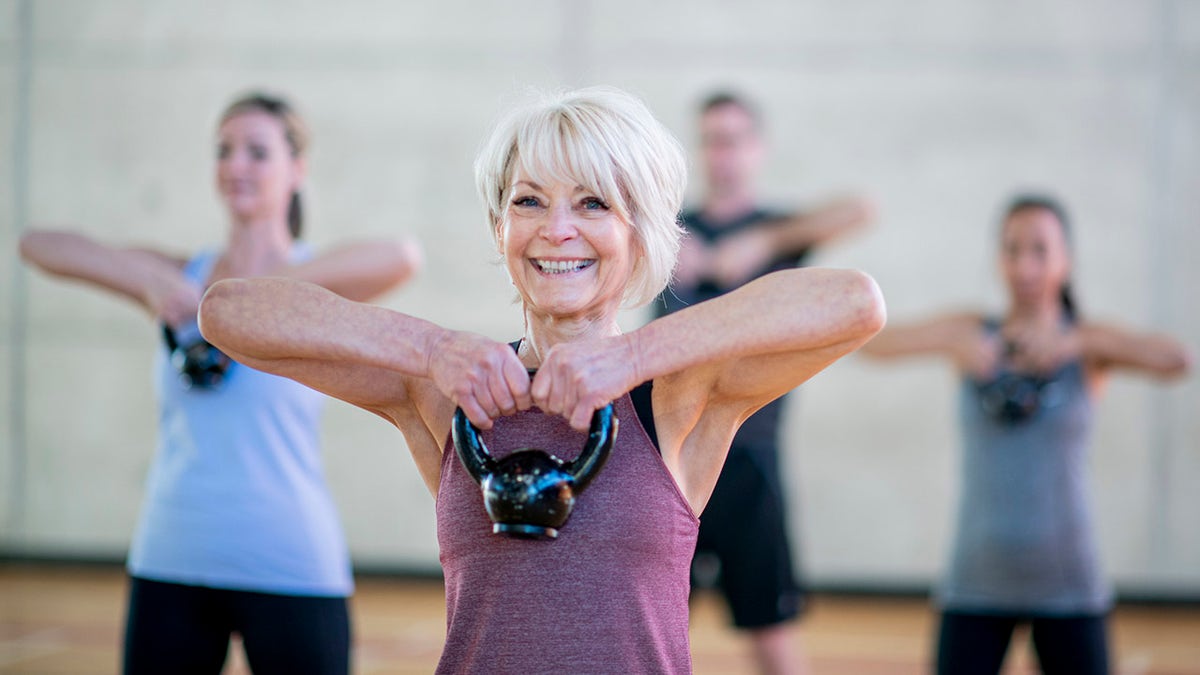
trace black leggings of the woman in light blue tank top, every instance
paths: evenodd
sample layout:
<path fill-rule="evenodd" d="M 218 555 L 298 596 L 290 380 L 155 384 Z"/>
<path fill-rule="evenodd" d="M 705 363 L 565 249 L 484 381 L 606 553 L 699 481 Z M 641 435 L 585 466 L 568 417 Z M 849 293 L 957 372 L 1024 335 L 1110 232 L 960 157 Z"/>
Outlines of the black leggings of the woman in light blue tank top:
<path fill-rule="evenodd" d="M 125 674 L 216 675 L 241 635 L 256 675 L 347 675 L 346 598 L 226 591 L 133 578 Z"/>

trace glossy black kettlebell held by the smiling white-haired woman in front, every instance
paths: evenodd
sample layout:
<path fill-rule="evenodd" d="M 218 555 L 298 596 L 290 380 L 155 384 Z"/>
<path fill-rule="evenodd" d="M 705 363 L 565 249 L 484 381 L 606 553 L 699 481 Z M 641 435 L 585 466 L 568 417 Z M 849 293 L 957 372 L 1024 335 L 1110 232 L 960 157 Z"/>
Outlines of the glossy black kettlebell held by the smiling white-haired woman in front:
<path fill-rule="evenodd" d="M 588 440 L 574 461 L 563 461 L 535 448 L 523 448 L 496 460 L 462 408 L 455 410 L 451 437 L 463 467 L 484 492 L 492 532 L 553 539 L 570 518 L 575 497 L 608 460 L 617 440 L 617 423 L 612 404 L 593 413 Z"/>

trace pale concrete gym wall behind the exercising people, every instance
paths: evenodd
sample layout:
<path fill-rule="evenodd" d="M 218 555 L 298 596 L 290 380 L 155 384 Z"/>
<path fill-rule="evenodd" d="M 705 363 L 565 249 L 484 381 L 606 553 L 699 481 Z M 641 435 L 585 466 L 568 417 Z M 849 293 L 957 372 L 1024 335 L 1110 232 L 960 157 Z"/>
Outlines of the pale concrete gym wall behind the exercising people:
<path fill-rule="evenodd" d="M 524 86 L 592 83 L 641 94 L 689 144 L 707 89 L 756 97 L 775 203 L 847 189 L 880 203 L 874 232 L 817 262 L 874 274 L 895 319 L 998 309 L 996 210 L 1046 186 L 1075 215 L 1084 311 L 1200 348 L 1196 0 L 0 0 L 0 546 L 120 556 L 154 438 L 150 322 L 20 268 L 30 222 L 220 241 L 215 118 L 269 86 L 313 127 L 311 239 L 414 233 L 427 271 L 386 304 L 512 338 L 470 161 Z M 796 396 L 787 474 L 814 583 L 936 575 L 953 396 L 940 364 L 858 358 Z M 1100 404 L 1093 485 L 1122 590 L 1200 589 L 1198 412 L 1196 378 L 1117 380 Z M 334 402 L 325 443 L 355 561 L 436 569 L 432 500 L 400 434 Z"/>

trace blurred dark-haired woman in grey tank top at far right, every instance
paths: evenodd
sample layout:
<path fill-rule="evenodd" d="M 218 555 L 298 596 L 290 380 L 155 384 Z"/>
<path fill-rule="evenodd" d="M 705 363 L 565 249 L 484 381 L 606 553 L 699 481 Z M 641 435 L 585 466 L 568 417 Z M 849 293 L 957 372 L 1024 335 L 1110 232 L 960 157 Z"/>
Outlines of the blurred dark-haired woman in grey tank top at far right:
<path fill-rule="evenodd" d="M 1112 370 L 1169 378 L 1176 341 L 1080 319 L 1067 215 L 1015 198 L 1001 228 L 1002 317 L 960 313 L 889 325 L 864 353 L 938 354 L 962 374 L 962 486 L 942 610 L 938 673 L 998 673 L 1019 622 L 1045 673 L 1108 673 L 1112 592 L 1099 569 L 1087 485 L 1092 402 Z"/>

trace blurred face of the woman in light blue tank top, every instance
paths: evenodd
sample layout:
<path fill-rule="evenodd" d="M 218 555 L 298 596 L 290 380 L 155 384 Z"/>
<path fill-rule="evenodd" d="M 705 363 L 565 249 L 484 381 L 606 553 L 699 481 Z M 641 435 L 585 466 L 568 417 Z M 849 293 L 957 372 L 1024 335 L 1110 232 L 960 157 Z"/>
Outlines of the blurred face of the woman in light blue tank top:
<path fill-rule="evenodd" d="M 286 216 L 304 179 L 283 123 L 258 110 L 238 113 L 217 131 L 217 192 L 239 220 Z"/>

